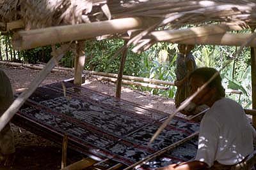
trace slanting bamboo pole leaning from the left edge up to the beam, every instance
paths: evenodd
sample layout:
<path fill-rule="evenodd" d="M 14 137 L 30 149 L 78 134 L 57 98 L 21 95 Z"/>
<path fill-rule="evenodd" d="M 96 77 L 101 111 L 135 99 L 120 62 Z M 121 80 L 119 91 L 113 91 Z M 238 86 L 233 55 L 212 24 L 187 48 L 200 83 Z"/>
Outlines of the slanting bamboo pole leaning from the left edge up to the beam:
<path fill-rule="evenodd" d="M 33 92 L 35 92 L 38 85 L 42 83 L 47 74 L 49 74 L 51 69 L 56 65 L 56 62 L 58 62 L 64 56 L 64 52 L 66 52 L 67 48 L 67 45 L 63 45 L 61 48 L 56 50 L 56 57 L 52 57 L 51 60 L 49 60 L 44 69 L 40 71 L 38 76 L 29 84 L 28 90 L 22 92 L 22 94 L 20 94 L 20 96 L 17 97 L 15 101 L 13 101 L 11 106 L 6 111 L 4 111 L 3 115 L 0 117 L 0 131 L 2 131 L 4 126 L 10 122 L 13 115 L 15 115 L 22 104 L 24 104 L 26 99 L 28 99 L 28 97 L 31 96 Z"/>

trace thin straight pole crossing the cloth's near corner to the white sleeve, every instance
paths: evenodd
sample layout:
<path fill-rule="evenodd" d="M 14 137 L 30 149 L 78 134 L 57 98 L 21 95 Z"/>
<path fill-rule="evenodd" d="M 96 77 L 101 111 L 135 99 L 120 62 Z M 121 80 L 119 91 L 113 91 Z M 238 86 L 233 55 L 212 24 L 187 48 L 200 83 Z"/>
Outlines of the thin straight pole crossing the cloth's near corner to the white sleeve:
<path fill-rule="evenodd" d="M 140 166 L 141 164 L 143 164 L 143 162 L 147 162 L 148 160 L 154 159 L 155 157 L 157 157 L 157 156 L 159 156 L 159 155 L 162 155 L 162 154 L 165 153 L 165 152 L 168 152 L 168 150 L 171 150 L 171 149 L 175 148 L 176 146 L 179 146 L 179 145 L 181 145 L 182 143 L 185 143 L 186 141 L 188 141 L 188 140 L 194 138 L 194 137 L 195 137 L 196 135 L 198 135 L 198 134 L 199 134 L 199 132 L 195 132 L 195 133 L 189 135 L 188 137 L 186 137 L 186 138 L 184 138 L 184 139 L 181 139 L 180 141 L 177 141 L 177 142 L 173 143 L 173 144 L 170 145 L 170 146 L 166 146 L 165 148 L 163 148 L 163 149 L 157 151 L 156 153 L 154 153 L 154 154 L 152 154 L 152 155 L 148 155 L 145 159 L 142 159 L 142 160 L 140 160 L 140 161 L 138 161 L 138 162 L 132 164 L 131 166 L 126 167 L 124 170 L 131 169 L 131 168 L 133 168 L 133 167 L 135 167 L 135 166 Z"/>

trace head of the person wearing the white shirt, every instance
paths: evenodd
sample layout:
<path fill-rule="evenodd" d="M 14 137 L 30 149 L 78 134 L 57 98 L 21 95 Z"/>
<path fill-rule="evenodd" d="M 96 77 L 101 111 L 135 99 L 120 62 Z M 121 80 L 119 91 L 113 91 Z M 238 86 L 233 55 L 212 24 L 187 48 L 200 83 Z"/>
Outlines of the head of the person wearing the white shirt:
<path fill-rule="evenodd" d="M 220 73 L 211 67 L 200 67 L 189 74 L 190 94 L 195 93 L 196 90 L 210 80 L 214 74 L 217 74 L 216 77 L 195 97 L 194 101 L 199 101 L 200 104 L 207 104 L 209 106 L 217 99 L 225 97 L 225 89 L 221 85 Z"/>

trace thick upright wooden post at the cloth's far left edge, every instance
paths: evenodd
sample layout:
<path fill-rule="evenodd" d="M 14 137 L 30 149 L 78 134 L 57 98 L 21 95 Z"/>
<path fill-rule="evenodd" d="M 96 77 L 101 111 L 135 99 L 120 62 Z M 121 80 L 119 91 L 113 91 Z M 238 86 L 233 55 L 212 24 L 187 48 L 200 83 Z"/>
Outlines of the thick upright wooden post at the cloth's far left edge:
<path fill-rule="evenodd" d="M 74 75 L 74 84 L 80 85 L 82 84 L 82 73 L 84 70 L 84 42 L 77 43 L 76 46 L 76 57 L 75 57 L 75 75 Z"/>

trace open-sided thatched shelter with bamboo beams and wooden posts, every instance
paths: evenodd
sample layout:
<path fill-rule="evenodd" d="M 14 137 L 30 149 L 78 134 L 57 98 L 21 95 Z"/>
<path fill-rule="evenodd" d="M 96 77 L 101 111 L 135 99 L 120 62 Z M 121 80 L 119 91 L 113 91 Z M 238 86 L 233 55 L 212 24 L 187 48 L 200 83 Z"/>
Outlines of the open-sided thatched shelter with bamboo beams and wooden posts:
<path fill-rule="evenodd" d="M 75 80 L 81 84 L 83 40 L 122 38 L 122 64 L 116 96 L 120 97 L 125 51 L 133 44 L 142 52 L 158 41 L 195 45 L 251 46 L 252 96 L 256 108 L 255 33 L 253 0 L 8 0 L 0 2 L 1 32 L 12 32 L 16 50 L 52 45 L 52 59 L 0 118 L 0 129 L 12 118 L 67 50 L 76 52 Z M 189 25 L 186 29 L 181 29 Z M 252 34 L 236 33 L 251 29 Z M 60 44 L 60 48 L 56 48 Z M 86 53 L 86 52 L 85 52 Z M 253 115 L 253 125 L 256 117 Z"/>

